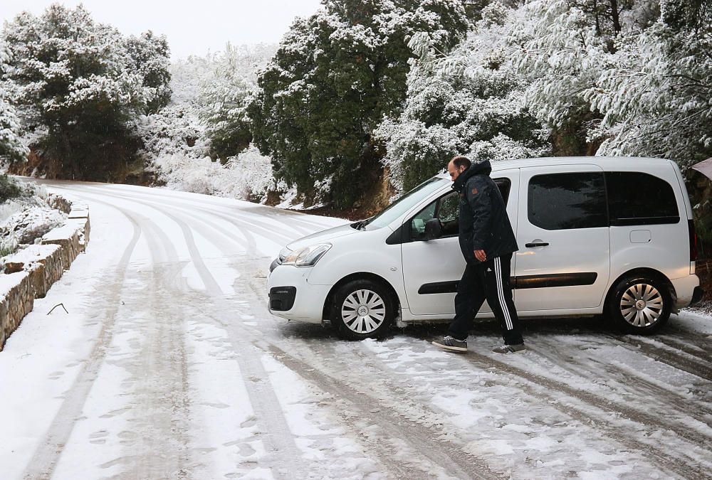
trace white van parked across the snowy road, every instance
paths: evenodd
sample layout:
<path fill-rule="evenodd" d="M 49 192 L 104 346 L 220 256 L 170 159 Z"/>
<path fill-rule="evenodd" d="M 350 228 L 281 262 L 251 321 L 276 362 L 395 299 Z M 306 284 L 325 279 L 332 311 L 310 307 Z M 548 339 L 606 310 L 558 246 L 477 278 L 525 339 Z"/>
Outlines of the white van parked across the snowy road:
<path fill-rule="evenodd" d="M 556 157 L 492 169 L 520 247 L 511 270 L 520 317 L 606 314 L 652 334 L 701 299 L 692 208 L 673 161 Z M 372 218 L 290 243 L 270 268 L 270 311 L 328 319 L 346 338 L 452 319 L 465 267 L 458 202 L 442 174 Z M 478 318 L 488 316 L 485 304 Z"/>

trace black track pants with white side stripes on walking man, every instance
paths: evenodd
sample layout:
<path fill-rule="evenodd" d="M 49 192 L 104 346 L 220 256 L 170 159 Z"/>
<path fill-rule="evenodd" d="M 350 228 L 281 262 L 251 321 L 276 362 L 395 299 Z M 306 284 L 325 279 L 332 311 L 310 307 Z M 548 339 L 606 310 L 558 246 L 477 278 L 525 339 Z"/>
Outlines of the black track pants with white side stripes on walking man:
<path fill-rule="evenodd" d="M 523 343 L 517 309 L 512 300 L 509 284 L 512 255 L 495 257 L 486 262 L 465 267 L 455 295 L 455 318 L 449 333 L 460 340 L 467 338 L 472 320 L 483 302 L 491 307 L 502 325 L 504 343 Z"/>

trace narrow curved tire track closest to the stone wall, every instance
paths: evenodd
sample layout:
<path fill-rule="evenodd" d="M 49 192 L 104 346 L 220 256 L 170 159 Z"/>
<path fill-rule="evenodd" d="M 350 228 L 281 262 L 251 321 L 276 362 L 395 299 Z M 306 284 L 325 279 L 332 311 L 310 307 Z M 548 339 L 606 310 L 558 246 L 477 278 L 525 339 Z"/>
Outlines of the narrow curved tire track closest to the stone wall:
<path fill-rule="evenodd" d="M 141 228 L 138 223 L 133 218 L 128 216 L 126 218 L 132 225 L 132 238 L 115 268 L 117 275 L 115 282 L 112 284 L 113 293 L 107 302 L 108 307 L 105 310 L 105 319 L 83 368 L 77 374 L 74 383 L 64 396 L 64 400 L 45 433 L 44 439 L 38 445 L 26 466 L 23 478 L 27 480 L 49 479 L 53 475 L 59 457 L 72 434 L 76 420 L 84 409 L 94 380 L 105 360 L 107 348 L 110 346 L 112 339 L 112 329 L 119 310 L 121 293 L 125 288 L 124 280 L 128 265 L 141 237 Z"/>

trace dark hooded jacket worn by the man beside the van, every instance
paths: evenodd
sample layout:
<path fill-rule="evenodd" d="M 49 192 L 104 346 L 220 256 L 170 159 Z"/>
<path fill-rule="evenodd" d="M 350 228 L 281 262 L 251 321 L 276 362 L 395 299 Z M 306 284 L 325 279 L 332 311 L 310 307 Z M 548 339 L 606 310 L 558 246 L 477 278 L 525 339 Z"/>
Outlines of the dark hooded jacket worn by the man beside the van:
<path fill-rule="evenodd" d="M 460 193 L 460 250 L 467 262 L 478 263 L 475 250 L 487 260 L 519 250 L 502 194 L 489 174 L 489 161 L 472 164 L 452 184 Z"/>

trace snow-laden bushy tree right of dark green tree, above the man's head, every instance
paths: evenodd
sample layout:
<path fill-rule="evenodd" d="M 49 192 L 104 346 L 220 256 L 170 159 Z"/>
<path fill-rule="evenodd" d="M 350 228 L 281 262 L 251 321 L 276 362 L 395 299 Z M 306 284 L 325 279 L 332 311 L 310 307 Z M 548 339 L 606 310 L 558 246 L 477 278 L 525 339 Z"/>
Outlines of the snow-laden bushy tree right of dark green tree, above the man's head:
<path fill-rule="evenodd" d="M 404 112 L 377 130 L 397 188 L 412 188 L 456 154 L 498 160 L 548 153 L 548 130 L 528 112 L 528 84 L 508 55 L 516 14 L 498 1 L 489 4 L 466 41 L 446 55 L 426 38 L 413 38 L 421 59 L 409 74 Z"/>

